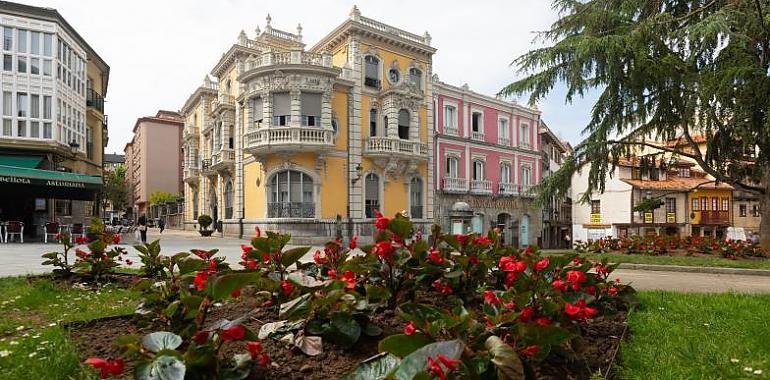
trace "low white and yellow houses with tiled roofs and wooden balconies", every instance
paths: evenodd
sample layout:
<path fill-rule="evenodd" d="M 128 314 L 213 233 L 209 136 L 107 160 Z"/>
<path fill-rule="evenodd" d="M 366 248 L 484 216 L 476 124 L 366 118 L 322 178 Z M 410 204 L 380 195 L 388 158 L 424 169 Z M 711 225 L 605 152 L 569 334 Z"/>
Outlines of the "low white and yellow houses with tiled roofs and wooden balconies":
<path fill-rule="evenodd" d="M 587 174 L 573 176 L 576 200 L 585 194 Z M 724 238 L 731 226 L 733 188 L 686 160 L 658 155 L 621 159 L 605 186 L 590 202 L 573 204 L 574 241 L 632 235 Z M 640 209 L 644 203 L 657 205 Z"/>

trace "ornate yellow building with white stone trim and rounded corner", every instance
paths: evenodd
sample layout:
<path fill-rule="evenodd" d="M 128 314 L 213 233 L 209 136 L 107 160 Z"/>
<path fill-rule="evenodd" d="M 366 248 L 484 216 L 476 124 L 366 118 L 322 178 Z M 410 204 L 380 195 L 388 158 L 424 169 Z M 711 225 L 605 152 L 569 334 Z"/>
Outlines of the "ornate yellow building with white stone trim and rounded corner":
<path fill-rule="evenodd" d="M 430 35 L 347 20 L 310 49 L 302 28 L 241 32 L 182 113 L 187 226 L 368 235 L 375 210 L 433 219 Z"/>

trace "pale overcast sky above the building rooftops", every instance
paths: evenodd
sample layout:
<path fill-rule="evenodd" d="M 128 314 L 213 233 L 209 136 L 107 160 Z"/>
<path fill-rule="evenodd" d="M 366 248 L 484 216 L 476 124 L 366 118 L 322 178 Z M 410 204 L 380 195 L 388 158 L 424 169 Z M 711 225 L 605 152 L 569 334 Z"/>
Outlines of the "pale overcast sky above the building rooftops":
<path fill-rule="evenodd" d="M 289 32 L 302 24 L 313 46 L 341 24 L 353 2 L 256 0 L 20 0 L 56 8 L 110 65 L 105 113 L 107 153 L 123 152 L 136 119 L 158 109 L 179 110 L 219 57 L 245 30 L 272 26 Z M 534 47 L 534 31 L 556 19 L 547 0 L 359 0 L 364 16 L 422 35 L 438 49 L 433 71 L 446 83 L 468 83 L 494 95 L 515 78 L 509 63 Z M 564 104 L 556 89 L 538 106 L 555 133 L 576 143 L 595 99 Z"/>

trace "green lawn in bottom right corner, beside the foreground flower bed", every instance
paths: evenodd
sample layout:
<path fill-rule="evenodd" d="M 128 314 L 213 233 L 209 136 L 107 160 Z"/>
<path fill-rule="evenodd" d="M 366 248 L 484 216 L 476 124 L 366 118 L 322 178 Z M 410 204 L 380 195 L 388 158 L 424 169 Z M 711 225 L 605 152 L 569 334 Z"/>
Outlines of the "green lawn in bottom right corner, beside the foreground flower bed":
<path fill-rule="evenodd" d="M 621 346 L 620 378 L 770 379 L 770 295 L 642 292 L 640 299 Z"/>

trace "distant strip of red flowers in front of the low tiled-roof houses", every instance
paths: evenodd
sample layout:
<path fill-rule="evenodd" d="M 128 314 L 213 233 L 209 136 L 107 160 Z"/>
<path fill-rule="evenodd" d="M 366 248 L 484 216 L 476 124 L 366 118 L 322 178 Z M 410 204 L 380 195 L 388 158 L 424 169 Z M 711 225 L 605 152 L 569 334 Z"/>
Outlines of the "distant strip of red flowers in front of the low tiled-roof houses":
<path fill-rule="evenodd" d="M 603 238 L 594 241 L 575 242 L 575 250 L 581 253 L 625 253 L 641 255 L 719 255 L 737 260 L 766 258 L 767 252 L 757 244 L 737 240 L 719 240 L 712 237 L 687 236 L 633 236 Z"/>

